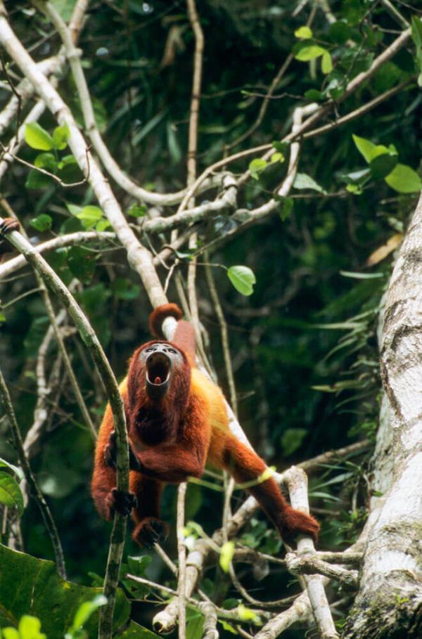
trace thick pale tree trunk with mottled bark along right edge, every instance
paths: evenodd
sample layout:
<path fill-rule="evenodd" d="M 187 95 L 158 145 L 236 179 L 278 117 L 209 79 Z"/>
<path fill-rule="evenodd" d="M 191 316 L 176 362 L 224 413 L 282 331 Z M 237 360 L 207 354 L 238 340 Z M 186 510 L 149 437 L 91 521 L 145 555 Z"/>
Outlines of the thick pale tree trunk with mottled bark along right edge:
<path fill-rule="evenodd" d="M 385 304 L 381 408 L 359 592 L 347 639 L 422 637 L 422 197 Z"/>

